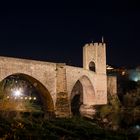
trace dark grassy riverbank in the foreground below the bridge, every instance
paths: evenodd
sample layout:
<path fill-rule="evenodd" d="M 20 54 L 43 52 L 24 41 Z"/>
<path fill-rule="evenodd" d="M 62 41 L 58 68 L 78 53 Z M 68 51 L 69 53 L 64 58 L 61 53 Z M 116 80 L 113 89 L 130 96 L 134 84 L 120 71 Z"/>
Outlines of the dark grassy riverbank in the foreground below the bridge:
<path fill-rule="evenodd" d="M 113 131 L 98 126 L 93 120 L 74 117 L 69 119 L 5 120 L 0 119 L 2 140 L 135 140 L 139 133 Z"/>

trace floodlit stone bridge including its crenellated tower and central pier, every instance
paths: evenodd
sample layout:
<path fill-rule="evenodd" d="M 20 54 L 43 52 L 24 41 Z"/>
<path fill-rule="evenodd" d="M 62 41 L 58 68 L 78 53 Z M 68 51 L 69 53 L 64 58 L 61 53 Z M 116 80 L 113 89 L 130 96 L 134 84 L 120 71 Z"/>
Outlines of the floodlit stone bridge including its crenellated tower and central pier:
<path fill-rule="evenodd" d="M 107 103 L 106 46 L 83 47 L 83 68 L 0 57 L 0 81 L 19 74 L 32 82 L 44 98 L 47 112 L 57 117 L 94 114 L 94 106 Z"/>

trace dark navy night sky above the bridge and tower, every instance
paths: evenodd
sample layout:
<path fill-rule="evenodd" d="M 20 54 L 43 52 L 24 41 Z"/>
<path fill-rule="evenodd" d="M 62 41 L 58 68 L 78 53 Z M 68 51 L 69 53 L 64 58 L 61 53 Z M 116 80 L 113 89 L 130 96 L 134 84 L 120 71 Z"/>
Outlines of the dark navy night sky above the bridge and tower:
<path fill-rule="evenodd" d="M 104 36 L 107 64 L 140 65 L 140 5 L 135 0 L 12 1 L 1 7 L 0 56 L 82 66 L 82 47 Z"/>

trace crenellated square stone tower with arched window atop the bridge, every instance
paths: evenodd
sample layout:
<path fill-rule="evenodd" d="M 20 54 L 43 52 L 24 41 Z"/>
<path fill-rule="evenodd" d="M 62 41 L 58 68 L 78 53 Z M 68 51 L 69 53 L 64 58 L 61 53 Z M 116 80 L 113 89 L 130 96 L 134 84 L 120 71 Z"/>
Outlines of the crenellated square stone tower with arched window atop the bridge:
<path fill-rule="evenodd" d="M 106 74 L 106 44 L 90 43 L 83 47 L 83 68 Z"/>

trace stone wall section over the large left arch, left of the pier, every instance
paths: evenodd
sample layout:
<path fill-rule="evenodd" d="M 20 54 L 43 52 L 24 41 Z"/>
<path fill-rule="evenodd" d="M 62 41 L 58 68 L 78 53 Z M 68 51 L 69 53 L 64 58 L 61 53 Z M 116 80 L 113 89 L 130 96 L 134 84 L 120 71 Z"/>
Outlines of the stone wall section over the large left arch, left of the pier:
<path fill-rule="evenodd" d="M 56 64 L 26 59 L 0 57 L 0 81 L 9 75 L 23 73 L 40 81 L 56 102 Z"/>

